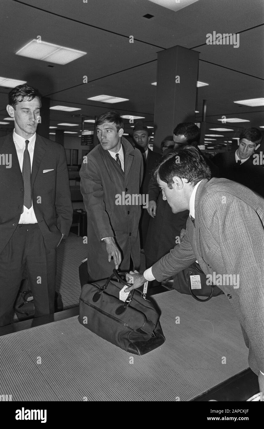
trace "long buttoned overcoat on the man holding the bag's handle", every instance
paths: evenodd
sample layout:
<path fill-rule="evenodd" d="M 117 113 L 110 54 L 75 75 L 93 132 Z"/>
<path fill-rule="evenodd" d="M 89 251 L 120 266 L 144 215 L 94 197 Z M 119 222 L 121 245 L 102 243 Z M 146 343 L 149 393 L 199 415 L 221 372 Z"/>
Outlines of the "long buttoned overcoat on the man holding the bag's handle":
<path fill-rule="evenodd" d="M 132 194 L 139 194 L 143 175 L 143 160 L 138 149 L 122 137 L 125 152 L 125 172 L 101 145 L 92 149 L 80 169 L 80 189 L 87 211 L 88 272 L 92 279 L 107 278 L 115 268 L 108 262 L 106 245 L 101 239 L 115 237 L 122 253 L 121 270 L 140 263 L 139 202 L 133 204 Z M 87 161 L 87 162 L 86 162 Z M 118 204 L 118 195 L 131 196 L 130 204 Z"/>

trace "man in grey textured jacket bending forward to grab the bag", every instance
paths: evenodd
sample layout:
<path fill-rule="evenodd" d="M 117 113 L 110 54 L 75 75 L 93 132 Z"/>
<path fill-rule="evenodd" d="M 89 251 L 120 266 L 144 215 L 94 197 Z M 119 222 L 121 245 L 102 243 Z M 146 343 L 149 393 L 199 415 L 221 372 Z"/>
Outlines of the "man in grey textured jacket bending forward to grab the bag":
<path fill-rule="evenodd" d="M 183 241 L 143 274 L 127 274 L 133 286 L 126 291 L 174 276 L 196 259 L 206 275 L 239 275 L 235 287 L 225 281 L 217 286 L 240 321 L 249 366 L 264 393 L 264 199 L 228 179 L 210 180 L 210 169 L 192 146 L 168 154 L 155 175 L 172 212 L 190 210 L 187 230 Z"/>

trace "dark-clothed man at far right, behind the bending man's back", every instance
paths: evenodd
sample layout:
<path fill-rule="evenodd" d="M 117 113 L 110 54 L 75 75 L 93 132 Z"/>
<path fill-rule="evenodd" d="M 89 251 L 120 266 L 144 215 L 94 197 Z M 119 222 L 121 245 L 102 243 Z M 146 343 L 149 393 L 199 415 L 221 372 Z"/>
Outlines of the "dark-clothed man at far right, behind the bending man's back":
<path fill-rule="evenodd" d="M 219 169 L 219 177 L 241 183 L 264 196 L 264 167 L 254 159 L 261 139 L 261 132 L 257 128 L 244 128 L 239 136 L 237 150 L 220 152 L 212 161 Z"/>

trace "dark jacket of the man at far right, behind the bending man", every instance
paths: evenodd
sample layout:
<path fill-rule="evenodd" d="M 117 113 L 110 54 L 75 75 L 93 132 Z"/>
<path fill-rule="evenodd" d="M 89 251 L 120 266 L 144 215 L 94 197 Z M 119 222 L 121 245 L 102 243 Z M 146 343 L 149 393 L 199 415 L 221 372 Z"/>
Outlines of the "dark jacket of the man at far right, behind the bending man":
<path fill-rule="evenodd" d="M 264 196 L 264 167 L 253 164 L 253 156 L 237 164 L 235 151 L 220 152 L 215 155 L 213 162 L 219 169 L 218 177 L 241 183 L 246 187 Z"/>

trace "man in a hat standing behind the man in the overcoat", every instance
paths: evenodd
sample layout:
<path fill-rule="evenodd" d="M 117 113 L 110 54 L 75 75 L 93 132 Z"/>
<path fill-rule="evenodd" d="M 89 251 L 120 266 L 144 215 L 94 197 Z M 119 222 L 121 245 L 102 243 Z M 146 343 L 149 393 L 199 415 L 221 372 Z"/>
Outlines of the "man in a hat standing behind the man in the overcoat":
<path fill-rule="evenodd" d="M 161 155 L 157 152 L 153 152 L 148 149 L 148 143 L 150 140 L 148 127 L 143 122 L 136 122 L 131 135 L 136 148 L 140 150 L 143 158 L 144 173 L 143 181 L 140 187 L 140 193 L 144 196 L 148 195 L 148 184 L 151 179 L 151 173 L 158 161 L 161 159 Z M 139 221 L 139 235 L 140 235 L 140 247 L 144 248 L 146 236 L 148 232 L 148 223 L 150 216 L 148 215 L 147 207 L 142 207 L 141 217 Z"/>

